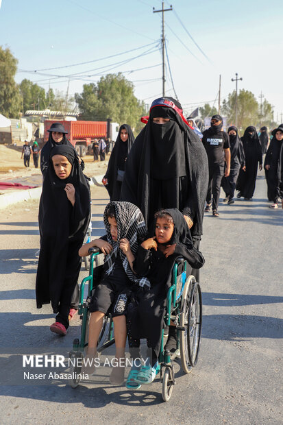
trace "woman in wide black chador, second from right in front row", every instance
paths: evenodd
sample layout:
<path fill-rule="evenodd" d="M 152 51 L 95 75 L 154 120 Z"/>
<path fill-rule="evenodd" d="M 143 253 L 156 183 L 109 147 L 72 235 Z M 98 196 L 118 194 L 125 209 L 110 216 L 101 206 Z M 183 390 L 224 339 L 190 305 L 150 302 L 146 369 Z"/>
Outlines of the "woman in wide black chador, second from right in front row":
<path fill-rule="evenodd" d="M 249 126 L 245 129 L 243 137 L 241 137 L 245 152 L 245 171 L 240 170 L 236 189 L 239 191 L 237 197 L 244 197 L 246 200 L 254 196 L 256 188 L 256 175 L 258 168 L 262 170 L 262 151 L 256 127 Z M 258 167 L 259 164 L 259 167 Z"/>

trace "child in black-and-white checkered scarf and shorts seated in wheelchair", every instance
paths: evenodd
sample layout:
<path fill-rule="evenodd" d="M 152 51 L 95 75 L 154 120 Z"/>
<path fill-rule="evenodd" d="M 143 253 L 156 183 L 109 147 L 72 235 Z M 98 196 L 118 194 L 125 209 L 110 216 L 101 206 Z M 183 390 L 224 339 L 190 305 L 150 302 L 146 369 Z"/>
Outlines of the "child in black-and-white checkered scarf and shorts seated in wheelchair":
<path fill-rule="evenodd" d="M 117 363 L 125 357 L 127 338 L 125 310 L 133 285 L 149 287 L 147 278 L 138 278 L 133 271 L 138 243 L 146 234 L 145 221 L 140 210 L 130 202 L 110 202 L 103 215 L 106 236 L 82 245 L 80 256 L 88 255 L 91 247 L 99 247 L 105 255 L 103 278 L 95 288 L 90 301 L 90 322 L 87 357 L 97 357 L 97 341 L 103 324 L 103 316 L 110 312 L 114 322 Z M 94 372 L 94 367 L 85 373 Z M 124 380 L 124 367 L 112 369 L 110 382 L 121 385 Z"/>

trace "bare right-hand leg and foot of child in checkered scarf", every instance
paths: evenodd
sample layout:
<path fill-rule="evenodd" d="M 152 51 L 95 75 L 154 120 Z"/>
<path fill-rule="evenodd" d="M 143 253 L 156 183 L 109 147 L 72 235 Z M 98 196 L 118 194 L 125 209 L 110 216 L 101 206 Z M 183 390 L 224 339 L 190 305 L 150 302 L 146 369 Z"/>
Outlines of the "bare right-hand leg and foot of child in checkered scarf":
<path fill-rule="evenodd" d="M 127 326 L 125 316 L 116 316 L 113 317 L 114 322 L 114 337 L 116 345 L 116 359 L 118 360 L 118 365 L 113 367 L 110 374 L 110 383 L 115 385 L 121 385 L 124 382 L 125 366 L 123 366 L 125 359 L 125 345 L 127 339 Z M 121 359 L 122 365 L 120 366 L 119 362 Z"/>

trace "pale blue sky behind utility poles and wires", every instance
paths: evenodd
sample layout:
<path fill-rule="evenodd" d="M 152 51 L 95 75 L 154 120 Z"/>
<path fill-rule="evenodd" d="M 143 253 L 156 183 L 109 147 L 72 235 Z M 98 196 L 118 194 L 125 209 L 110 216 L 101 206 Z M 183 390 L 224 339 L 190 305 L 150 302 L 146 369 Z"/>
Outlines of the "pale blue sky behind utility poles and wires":
<path fill-rule="evenodd" d="M 164 12 L 166 95 L 176 93 L 186 114 L 207 102 L 218 107 L 219 75 L 222 100 L 238 73 L 238 88 L 258 101 L 262 93 L 275 121 L 283 122 L 283 1 L 164 1 L 170 5 Z M 0 45 L 19 61 L 18 83 L 27 78 L 71 96 L 102 75 L 122 72 L 150 106 L 162 95 L 162 14 L 153 8 L 162 2 L 0 0 Z"/>

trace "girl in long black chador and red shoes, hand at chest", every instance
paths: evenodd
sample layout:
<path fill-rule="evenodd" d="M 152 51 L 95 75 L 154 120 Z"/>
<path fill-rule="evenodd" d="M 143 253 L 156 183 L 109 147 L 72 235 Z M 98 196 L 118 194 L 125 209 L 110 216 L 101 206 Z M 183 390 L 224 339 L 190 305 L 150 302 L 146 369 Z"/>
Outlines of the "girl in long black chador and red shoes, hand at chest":
<path fill-rule="evenodd" d="M 52 332 L 66 335 L 71 298 L 81 266 L 78 255 L 90 221 L 90 192 L 75 149 L 58 145 L 42 185 L 39 205 L 40 254 L 36 304 L 49 304 L 57 313 Z"/>

